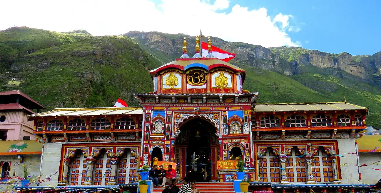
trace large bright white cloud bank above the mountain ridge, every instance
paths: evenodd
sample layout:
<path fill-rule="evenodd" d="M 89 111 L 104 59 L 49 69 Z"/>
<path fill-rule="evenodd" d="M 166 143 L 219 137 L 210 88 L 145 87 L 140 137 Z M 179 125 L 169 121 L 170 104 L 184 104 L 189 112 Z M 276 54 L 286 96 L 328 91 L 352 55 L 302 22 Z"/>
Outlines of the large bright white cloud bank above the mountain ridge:
<path fill-rule="evenodd" d="M 159 31 L 207 36 L 264 47 L 299 46 L 285 32 L 291 16 L 267 15 L 266 8 L 249 10 L 241 5 L 229 8 L 228 0 L 13 0 L 2 2 L 0 29 L 27 26 L 58 32 L 84 29 L 99 35 L 119 35 L 131 30 Z M 217 13 L 224 10 L 227 13 Z M 15 14 L 17 11 L 17 14 Z M 282 27 L 277 27 L 277 22 Z M 213 40 L 212 40 L 213 41 Z"/>

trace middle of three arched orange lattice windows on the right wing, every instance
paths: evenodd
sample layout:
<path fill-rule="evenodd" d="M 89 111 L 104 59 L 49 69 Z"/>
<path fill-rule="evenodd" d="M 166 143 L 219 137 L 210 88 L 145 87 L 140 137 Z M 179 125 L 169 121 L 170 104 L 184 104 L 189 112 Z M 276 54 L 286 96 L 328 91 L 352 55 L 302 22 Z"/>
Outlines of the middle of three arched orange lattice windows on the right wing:
<path fill-rule="evenodd" d="M 294 149 L 292 149 L 291 155 L 286 159 L 285 171 L 288 182 L 306 182 L 306 165 L 304 163 L 304 158 L 298 157 Z"/>

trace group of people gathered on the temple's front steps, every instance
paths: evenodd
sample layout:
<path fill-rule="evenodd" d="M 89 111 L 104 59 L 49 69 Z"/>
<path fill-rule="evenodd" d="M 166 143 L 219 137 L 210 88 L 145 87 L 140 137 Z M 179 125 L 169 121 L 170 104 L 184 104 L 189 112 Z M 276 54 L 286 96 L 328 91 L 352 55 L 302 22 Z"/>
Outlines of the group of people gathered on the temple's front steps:
<path fill-rule="evenodd" d="M 191 182 L 188 177 L 182 179 L 182 186 L 177 186 L 176 171 L 172 165 L 168 165 L 168 169 L 165 170 L 163 165 L 157 167 L 152 166 L 152 169 L 148 173 L 148 179 L 154 182 L 154 187 L 163 187 L 162 193 L 200 193 L 196 188 L 196 182 Z M 166 182 L 171 181 L 171 185 L 165 186 Z M 161 182 L 161 184 L 160 184 Z"/>

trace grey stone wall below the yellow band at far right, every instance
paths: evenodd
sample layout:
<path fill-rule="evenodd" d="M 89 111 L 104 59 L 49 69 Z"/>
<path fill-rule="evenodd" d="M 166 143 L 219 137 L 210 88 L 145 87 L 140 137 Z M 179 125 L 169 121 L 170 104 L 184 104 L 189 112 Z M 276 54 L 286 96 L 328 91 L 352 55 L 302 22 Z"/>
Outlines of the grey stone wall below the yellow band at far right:
<path fill-rule="evenodd" d="M 360 156 L 360 166 L 367 164 L 367 166 L 360 167 L 361 180 L 363 184 L 376 184 L 379 179 L 381 179 L 381 172 L 375 169 L 381 169 L 381 152 L 371 152 L 371 153 L 359 153 Z M 375 164 L 372 164 L 375 163 Z M 380 165 L 377 165 L 380 164 Z M 375 169 L 373 169 L 375 168 Z"/>

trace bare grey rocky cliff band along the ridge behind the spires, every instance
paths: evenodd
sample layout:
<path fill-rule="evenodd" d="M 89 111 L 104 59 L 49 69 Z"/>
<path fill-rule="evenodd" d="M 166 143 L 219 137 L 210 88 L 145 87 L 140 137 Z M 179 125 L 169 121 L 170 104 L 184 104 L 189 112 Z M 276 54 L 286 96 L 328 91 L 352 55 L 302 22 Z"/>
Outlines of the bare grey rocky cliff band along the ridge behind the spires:
<path fill-rule="evenodd" d="M 182 49 L 184 36 L 188 39 L 188 50 L 192 53 L 195 37 L 184 34 L 165 34 L 160 32 L 136 32 L 125 34 L 151 49 L 158 50 L 170 56 L 173 60 L 179 56 Z M 227 42 L 220 38 L 211 37 L 214 46 L 236 54 L 232 60 L 238 63 L 246 63 L 251 66 L 275 71 L 282 74 L 292 75 L 298 73 L 298 66 L 312 65 L 319 68 L 335 68 L 361 78 L 379 76 L 381 72 L 381 54 L 353 57 L 347 52 L 330 54 L 318 50 L 307 50 L 301 47 L 263 47 L 239 42 Z"/>

